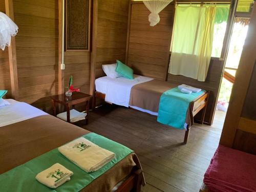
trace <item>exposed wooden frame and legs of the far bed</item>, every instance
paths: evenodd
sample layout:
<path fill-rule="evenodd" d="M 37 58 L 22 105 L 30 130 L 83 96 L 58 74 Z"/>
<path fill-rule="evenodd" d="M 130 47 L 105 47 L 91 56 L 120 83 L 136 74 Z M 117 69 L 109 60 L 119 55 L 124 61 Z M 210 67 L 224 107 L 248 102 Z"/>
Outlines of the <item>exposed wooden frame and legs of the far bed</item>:
<path fill-rule="evenodd" d="M 201 110 L 203 110 L 202 115 L 201 115 L 201 120 L 200 120 L 201 124 L 204 123 L 204 117 L 205 117 L 205 112 L 206 112 L 206 108 L 207 108 L 209 94 L 210 94 L 210 92 L 207 91 L 204 95 L 197 98 L 197 100 L 192 101 L 193 102 L 192 103 L 193 117 L 195 117 L 195 115 L 197 115 Z M 96 98 L 105 99 L 105 94 L 95 91 L 94 98 L 93 98 L 93 106 L 95 106 L 95 104 L 96 104 Z M 191 127 L 189 127 L 185 132 L 184 141 L 183 141 L 184 144 L 187 143 L 189 133 L 190 133 L 190 128 Z"/>

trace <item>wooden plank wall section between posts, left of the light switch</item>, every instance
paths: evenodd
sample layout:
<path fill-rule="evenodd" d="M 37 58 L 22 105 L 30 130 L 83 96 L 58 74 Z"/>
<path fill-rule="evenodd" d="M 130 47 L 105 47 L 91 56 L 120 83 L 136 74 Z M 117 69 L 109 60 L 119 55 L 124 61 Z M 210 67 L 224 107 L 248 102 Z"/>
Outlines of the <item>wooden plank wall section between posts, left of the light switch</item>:
<path fill-rule="evenodd" d="M 58 83 L 58 1 L 14 1 L 19 100 L 47 110 Z"/>

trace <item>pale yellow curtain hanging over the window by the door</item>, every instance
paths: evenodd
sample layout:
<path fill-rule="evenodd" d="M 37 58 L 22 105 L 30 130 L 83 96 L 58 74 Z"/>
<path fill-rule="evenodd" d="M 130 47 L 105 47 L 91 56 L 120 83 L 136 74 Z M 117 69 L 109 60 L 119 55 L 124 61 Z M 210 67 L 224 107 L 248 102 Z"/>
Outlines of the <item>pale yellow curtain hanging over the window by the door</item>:
<path fill-rule="evenodd" d="M 169 73 L 205 81 L 212 50 L 216 6 L 178 5 Z"/>

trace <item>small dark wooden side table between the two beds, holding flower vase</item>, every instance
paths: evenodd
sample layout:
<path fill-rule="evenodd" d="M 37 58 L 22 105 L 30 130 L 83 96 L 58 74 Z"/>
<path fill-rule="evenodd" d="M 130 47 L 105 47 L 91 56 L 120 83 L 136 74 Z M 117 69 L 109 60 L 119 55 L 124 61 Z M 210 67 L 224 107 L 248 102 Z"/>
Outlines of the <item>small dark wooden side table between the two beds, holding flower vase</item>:
<path fill-rule="evenodd" d="M 75 104 L 86 102 L 86 124 L 88 124 L 89 105 L 91 99 L 91 95 L 81 92 L 74 92 L 70 97 L 67 97 L 65 94 L 54 95 L 51 97 L 53 115 L 56 117 L 56 103 L 62 104 L 65 106 L 65 109 L 67 111 L 67 122 L 70 123 L 70 109 L 74 108 Z"/>

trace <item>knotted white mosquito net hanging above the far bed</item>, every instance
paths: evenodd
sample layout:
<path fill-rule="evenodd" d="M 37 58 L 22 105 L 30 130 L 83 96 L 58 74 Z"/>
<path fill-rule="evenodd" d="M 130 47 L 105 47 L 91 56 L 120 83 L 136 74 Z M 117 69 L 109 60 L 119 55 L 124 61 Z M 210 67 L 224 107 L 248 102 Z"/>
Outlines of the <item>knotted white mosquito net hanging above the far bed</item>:
<path fill-rule="evenodd" d="M 150 22 L 150 26 L 155 26 L 160 22 L 160 13 L 170 2 L 173 0 L 158 0 L 158 1 L 143 1 L 148 10 L 150 10 L 151 14 L 148 15 L 148 21 Z"/>

